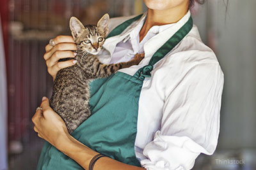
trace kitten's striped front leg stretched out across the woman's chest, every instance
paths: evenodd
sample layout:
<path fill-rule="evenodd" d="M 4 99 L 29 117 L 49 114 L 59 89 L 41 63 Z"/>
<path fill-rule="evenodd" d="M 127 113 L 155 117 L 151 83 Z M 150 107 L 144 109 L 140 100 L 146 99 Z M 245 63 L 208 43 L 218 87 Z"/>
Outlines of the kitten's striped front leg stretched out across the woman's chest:
<path fill-rule="evenodd" d="M 129 60 L 128 62 L 119 62 L 116 64 L 102 64 L 100 63 L 97 69 L 97 72 L 95 73 L 95 77 L 106 77 L 109 76 L 112 73 L 115 73 L 118 71 L 118 69 L 123 69 L 130 67 L 132 65 L 137 65 L 141 62 L 141 60 L 144 58 L 144 53 L 136 53 L 134 55 L 134 58 L 132 60 Z"/>

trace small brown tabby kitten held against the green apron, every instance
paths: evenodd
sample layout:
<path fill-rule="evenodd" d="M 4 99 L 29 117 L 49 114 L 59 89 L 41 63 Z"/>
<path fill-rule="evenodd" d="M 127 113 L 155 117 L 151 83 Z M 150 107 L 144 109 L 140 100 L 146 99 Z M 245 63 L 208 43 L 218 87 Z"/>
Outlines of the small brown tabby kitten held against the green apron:
<path fill-rule="evenodd" d="M 96 55 L 108 34 L 108 21 L 108 14 L 100 18 L 97 25 L 84 26 L 76 17 L 70 18 L 70 30 L 78 49 L 75 57 L 77 64 L 58 71 L 50 99 L 52 109 L 63 118 L 70 134 L 91 115 L 90 80 L 104 78 L 118 69 L 139 64 L 144 57 L 143 54 L 136 54 L 129 62 L 102 64 Z"/>

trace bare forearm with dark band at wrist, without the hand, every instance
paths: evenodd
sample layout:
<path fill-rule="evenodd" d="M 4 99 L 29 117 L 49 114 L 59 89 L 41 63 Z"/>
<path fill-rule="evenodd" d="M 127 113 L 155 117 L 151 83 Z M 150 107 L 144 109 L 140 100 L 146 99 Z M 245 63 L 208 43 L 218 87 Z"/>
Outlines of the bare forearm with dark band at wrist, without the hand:
<path fill-rule="evenodd" d="M 72 136 L 67 134 L 65 137 L 61 137 L 61 143 L 56 146 L 58 150 L 63 152 L 65 155 L 75 160 L 80 166 L 84 169 L 88 169 L 90 161 L 93 157 L 99 153 L 93 151 L 87 146 L 83 145 Z M 142 167 L 130 166 L 128 164 L 124 164 L 122 162 L 118 162 L 117 160 L 111 159 L 109 157 L 102 157 L 95 163 L 95 170 L 103 170 L 103 169 L 132 169 L 132 170 L 140 170 L 144 169 Z"/>

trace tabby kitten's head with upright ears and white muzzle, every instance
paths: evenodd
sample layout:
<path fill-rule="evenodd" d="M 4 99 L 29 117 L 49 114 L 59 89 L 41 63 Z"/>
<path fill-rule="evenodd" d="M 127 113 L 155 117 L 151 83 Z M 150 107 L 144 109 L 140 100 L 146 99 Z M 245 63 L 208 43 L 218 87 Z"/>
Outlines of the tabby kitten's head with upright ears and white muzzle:
<path fill-rule="evenodd" d="M 69 26 L 78 50 L 97 55 L 108 34 L 109 15 L 100 18 L 97 25 L 83 25 L 76 17 L 71 17 Z"/>

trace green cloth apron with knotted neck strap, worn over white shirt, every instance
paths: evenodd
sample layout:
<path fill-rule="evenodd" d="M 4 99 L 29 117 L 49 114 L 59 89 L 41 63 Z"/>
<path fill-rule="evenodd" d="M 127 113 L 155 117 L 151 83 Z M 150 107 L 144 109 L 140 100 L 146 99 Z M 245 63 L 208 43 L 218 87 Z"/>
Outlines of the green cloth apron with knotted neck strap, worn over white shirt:
<path fill-rule="evenodd" d="M 108 37 L 122 33 L 138 17 L 127 20 L 110 32 Z M 92 115 L 72 133 L 72 136 L 96 152 L 125 164 L 140 166 L 134 152 L 137 132 L 138 103 L 145 77 L 150 77 L 154 64 L 173 49 L 193 26 L 192 18 L 168 39 L 152 56 L 147 66 L 133 76 L 122 72 L 91 83 Z M 167 73 L 166 73 L 167 74 Z M 83 169 L 51 144 L 45 142 L 37 169 Z"/>

